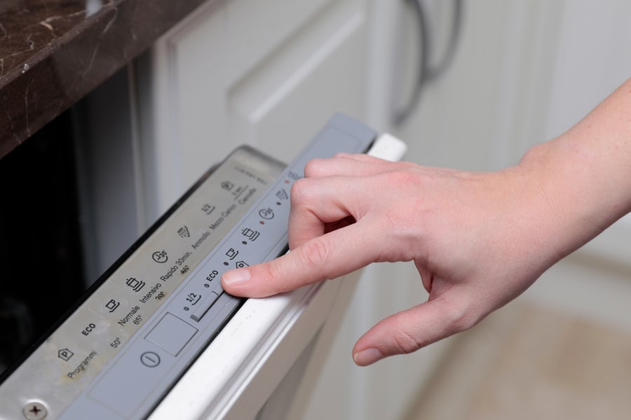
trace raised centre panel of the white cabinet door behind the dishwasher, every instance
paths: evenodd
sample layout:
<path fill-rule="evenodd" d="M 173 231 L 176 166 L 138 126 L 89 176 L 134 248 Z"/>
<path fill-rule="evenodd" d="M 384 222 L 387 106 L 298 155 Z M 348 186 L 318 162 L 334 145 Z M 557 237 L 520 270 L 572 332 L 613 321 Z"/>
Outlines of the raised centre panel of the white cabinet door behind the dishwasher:
<path fill-rule="evenodd" d="M 330 13 L 247 75 L 228 93 L 231 137 L 288 162 L 332 113 L 361 117 L 365 21 Z"/>

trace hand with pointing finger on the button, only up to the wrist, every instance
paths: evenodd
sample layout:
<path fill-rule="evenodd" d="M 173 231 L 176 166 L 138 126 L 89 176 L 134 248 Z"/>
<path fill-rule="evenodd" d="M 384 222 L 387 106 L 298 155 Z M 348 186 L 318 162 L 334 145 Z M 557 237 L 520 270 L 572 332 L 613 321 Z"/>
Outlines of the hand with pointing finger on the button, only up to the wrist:
<path fill-rule="evenodd" d="M 353 349 L 358 365 L 469 328 L 547 268 L 533 253 L 551 232 L 534 225 L 529 209 L 549 209 L 536 180 L 515 169 L 476 174 L 338 155 L 311 161 L 305 174 L 291 193 L 292 251 L 224 274 L 224 288 L 263 297 L 371 262 L 414 261 L 428 302 L 361 337 Z"/>

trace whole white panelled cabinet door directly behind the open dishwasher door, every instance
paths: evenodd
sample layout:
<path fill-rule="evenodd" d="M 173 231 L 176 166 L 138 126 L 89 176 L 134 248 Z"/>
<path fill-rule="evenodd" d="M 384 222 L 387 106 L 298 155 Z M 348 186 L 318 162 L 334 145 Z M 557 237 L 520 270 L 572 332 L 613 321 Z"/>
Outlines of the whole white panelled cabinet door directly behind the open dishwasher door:
<path fill-rule="evenodd" d="M 239 144 L 288 161 L 335 112 L 362 118 L 365 3 L 209 2 L 163 36 L 138 80 L 147 219 Z"/>

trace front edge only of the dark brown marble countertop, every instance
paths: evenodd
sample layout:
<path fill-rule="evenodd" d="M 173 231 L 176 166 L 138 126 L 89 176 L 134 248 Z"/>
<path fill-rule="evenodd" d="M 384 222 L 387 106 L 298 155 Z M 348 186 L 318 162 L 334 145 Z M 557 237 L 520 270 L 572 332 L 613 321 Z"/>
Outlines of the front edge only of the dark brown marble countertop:
<path fill-rule="evenodd" d="M 0 80 L 0 158 L 204 2 L 112 2 L 10 69 Z"/>

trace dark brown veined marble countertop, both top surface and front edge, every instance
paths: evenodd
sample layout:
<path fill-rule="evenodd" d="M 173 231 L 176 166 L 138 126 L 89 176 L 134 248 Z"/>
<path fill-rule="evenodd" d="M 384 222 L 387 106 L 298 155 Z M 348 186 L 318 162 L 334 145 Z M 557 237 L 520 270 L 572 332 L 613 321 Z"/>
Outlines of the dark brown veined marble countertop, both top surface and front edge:
<path fill-rule="evenodd" d="M 204 1 L 0 1 L 0 158 Z"/>

